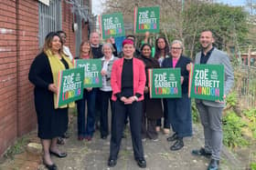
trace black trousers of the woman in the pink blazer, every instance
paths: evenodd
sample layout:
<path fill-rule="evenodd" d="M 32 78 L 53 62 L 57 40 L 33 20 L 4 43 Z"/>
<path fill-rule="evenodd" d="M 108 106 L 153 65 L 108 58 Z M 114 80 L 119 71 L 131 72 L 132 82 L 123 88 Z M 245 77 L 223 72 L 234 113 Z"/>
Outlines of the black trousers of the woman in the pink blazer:
<path fill-rule="evenodd" d="M 122 101 L 117 99 L 113 102 L 112 112 L 112 138 L 110 158 L 117 159 L 126 114 L 129 116 L 130 128 L 133 142 L 133 155 L 135 159 L 144 157 L 144 149 L 142 144 L 142 102 L 133 102 L 132 105 L 124 105 Z"/>

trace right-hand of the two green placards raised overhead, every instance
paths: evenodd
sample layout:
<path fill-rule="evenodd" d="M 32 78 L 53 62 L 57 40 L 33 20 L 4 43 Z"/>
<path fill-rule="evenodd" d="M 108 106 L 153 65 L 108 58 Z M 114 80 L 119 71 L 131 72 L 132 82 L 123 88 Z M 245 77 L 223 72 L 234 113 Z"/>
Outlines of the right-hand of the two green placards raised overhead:
<path fill-rule="evenodd" d="M 159 6 L 138 7 L 134 9 L 135 33 L 159 33 Z"/>

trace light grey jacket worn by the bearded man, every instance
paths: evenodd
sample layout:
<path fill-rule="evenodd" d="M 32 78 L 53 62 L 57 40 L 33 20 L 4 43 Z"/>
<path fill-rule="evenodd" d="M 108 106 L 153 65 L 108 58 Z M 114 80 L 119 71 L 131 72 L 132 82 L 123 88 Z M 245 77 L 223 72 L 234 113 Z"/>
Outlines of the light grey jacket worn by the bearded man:
<path fill-rule="evenodd" d="M 201 59 L 201 52 L 197 53 L 195 64 L 200 64 Z M 233 68 L 229 61 L 229 56 L 224 53 L 223 51 L 220 51 L 217 48 L 214 48 L 211 55 L 208 58 L 207 64 L 209 65 L 224 65 L 224 72 L 225 72 L 225 83 L 224 83 L 224 95 L 228 95 L 229 91 L 234 83 L 234 74 L 233 74 Z M 224 107 L 224 103 L 214 102 L 214 101 L 208 101 L 208 100 L 200 100 L 196 99 L 196 103 L 199 103 L 202 101 L 204 105 L 208 106 L 214 106 L 214 107 Z"/>

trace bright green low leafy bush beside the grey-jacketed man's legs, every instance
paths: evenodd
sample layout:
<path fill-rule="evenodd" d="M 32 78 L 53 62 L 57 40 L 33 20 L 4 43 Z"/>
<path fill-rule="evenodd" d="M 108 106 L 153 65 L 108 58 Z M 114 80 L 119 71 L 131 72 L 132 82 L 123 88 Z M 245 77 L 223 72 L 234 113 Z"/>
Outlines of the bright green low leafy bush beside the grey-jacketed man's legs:
<path fill-rule="evenodd" d="M 241 128 L 246 126 L 241 118 L 234 112 L 223 117 L 223 143 L 229 147 L 249 145 L 242 137 Z"/>

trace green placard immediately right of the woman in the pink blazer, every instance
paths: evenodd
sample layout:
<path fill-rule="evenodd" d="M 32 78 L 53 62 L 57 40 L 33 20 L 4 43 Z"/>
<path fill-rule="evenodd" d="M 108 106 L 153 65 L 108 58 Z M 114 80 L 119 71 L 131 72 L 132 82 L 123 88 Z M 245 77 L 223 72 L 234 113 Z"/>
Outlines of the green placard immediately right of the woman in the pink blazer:
<path fill-rule="evenodd" d="M 180 98 L 180 68 L 149 69 L 151 98 Z"/>

